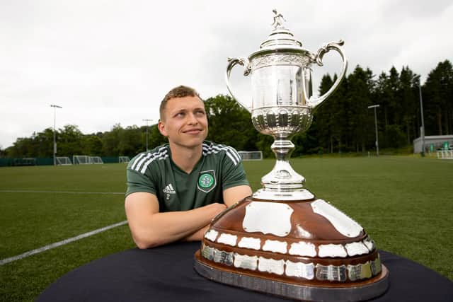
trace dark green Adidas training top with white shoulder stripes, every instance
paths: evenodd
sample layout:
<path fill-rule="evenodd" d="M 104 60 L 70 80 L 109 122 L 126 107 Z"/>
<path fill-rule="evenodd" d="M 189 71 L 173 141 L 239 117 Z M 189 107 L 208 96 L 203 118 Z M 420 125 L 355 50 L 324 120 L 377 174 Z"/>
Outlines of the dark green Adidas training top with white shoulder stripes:
<path fill-rule="evenodd" d="M 248 185 L 241 156 L 231 146 L 204 141 L 202 157 L 185 173 L 171 159 L 168 144 L 139 153 L 127 165 L 127 192 L 149 192 L 159 200 L 159 211 L 187 211 L 223 203 L 223 190 Z"/>

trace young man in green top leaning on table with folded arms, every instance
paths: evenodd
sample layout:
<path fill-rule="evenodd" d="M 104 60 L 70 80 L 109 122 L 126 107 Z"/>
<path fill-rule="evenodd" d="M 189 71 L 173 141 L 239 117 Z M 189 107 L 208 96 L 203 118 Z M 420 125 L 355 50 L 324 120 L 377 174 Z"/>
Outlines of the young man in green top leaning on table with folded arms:
<path fill-rule="evenodd" d="M 139 248 L 201 240 L 214 216 L 251 195 L 238 153 L 205 141 L 205 105 L 195 90 L 173 88 L 160 115 L 168 144 L 127 166 L 125 209 Z"/>

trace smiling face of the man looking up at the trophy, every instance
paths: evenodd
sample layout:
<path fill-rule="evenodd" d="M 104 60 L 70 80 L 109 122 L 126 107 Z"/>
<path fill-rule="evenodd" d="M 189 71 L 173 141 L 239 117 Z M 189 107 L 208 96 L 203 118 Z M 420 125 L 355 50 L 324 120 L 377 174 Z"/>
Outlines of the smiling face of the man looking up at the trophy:
<path fill-rule="evenodd" d="M 170 144 L 193 148 L 207 137 L 205 104 L 197 96 L 171 98 L 166 103 L 159 131 Z"/>

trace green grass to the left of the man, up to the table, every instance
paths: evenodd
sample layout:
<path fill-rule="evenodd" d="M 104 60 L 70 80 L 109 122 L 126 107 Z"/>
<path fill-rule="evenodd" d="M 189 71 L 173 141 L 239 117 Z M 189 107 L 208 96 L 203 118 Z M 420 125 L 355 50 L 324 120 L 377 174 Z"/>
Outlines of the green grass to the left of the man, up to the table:
<path fill-rule="evenodd" d="M 0 168 L 0 259 L 124 221 L 125 165 Z M 33 301 L 63 274 L 105 255 L 134 247 L 129 228 L 95 236 L 0 266 L 0 300 Z"/>

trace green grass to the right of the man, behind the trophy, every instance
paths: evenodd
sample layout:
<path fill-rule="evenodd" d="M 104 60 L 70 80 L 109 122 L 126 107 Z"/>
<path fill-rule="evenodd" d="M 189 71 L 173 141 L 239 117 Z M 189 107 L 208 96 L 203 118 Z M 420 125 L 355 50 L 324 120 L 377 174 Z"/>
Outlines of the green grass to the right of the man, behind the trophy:
<path fill-rule="evenodd" d="M 270 170 L 273 161 L 246 164 L 256 190 L 260 173 Z M 453 161 L 297 158 L 292 165 L 316 197 L 360 223 L 378 248 L 453 280 Z"/>

